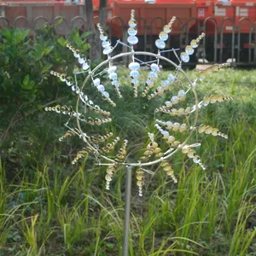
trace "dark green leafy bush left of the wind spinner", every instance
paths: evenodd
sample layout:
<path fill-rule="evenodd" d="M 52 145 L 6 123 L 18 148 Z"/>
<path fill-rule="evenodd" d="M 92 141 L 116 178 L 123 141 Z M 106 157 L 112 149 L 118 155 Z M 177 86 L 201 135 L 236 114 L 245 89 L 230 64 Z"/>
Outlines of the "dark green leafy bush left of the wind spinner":
<path fill-rule="evenodd" d="M 88 33 L 80 36 L 75 30 L 65 39 L 55 36 L 54 30 L 54 26 L 45 26 L 36 36 L 29 30 L 4 28 L 0 32 L 0 145 L 21 119 L 69 95 L 69 90 L 67 94 L 67 88 L 55 82 L 49 71 L 58 67 L 73 73 L 75 61 L 63 48 L 71 42 L 86 54 L 89 44 L 84 44 L 84 39 Z"/>

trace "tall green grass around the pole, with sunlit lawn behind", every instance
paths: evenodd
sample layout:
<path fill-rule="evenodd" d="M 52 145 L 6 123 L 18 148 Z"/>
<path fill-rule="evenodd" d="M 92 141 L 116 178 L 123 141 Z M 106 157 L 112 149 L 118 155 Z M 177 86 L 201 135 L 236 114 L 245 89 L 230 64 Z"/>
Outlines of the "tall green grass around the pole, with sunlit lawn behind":
<path fill-rule="evenodd" d="M 131 256 L 256 255 L 256 71 L 215 73 L 197 89 L 200 97 L 235 96 L 235 101 L 204 108 L 199 118 L 220 127 L 229 139 L 198 138 L 206 171 L 183 154 L 175 155 L 177 185 L 156 170 L 154 177 L 147 174 L 139 198 L 133 179 Z M 126 127 L 119 131 L 118 126 L 116 133 L 140 137 L 147 111 L 158 103 L 129 98 L 115 110 L 133 109 L 113 120 Z M 9 138 L 15 144 L 0 164 L 0 255 L 121 255 L 124 172 L 106 191 L 105 168 L 93 166 L 90 159 L 72 166 L 82 145 L 58 143 L 63 120 L 55 122 L 44 115 L 33 127 L 24 124 L 29 139 Z M 142 143 L 134 142 L 131 149 Z"/>

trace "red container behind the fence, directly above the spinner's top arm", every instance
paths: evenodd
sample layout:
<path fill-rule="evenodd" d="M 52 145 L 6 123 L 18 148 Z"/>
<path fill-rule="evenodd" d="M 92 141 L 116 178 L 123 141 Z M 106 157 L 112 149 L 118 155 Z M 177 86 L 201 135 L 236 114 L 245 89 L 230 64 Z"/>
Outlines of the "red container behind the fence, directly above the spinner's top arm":
<path fill-rule="evenodd" d="M 172 16 L 177 16 L 183 23 L 191 17 L 195 17 L 195 0 L 156 0 L 154 4 L 145 3 L 144 0 L 116 0 L 113 4 L 113 16 L 119 16 L 128 26 L 131 18 L 131 9 L 135 9 L 137 17 L 138 35 L 158 35 L 163 26 L 168 24 Z M 190 22 L 189 26 L 193 26 Z M 195 23 L 195 22 L 194 22 Z M 114 19 L 112 26 L 113 35 L 121 37 L 120 20 Z M 172 26 L 172 34 L 180 33 L 180 21 L 176 20 Z"/>

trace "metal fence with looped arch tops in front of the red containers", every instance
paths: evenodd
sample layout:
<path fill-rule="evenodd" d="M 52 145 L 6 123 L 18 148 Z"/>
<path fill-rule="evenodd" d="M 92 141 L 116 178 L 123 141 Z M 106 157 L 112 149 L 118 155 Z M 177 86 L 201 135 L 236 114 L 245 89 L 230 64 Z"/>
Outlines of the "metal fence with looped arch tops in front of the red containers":
<path fill-rule="evenodd" d="M 16 17 L 11 23 L 5 17 L 0 16 L 0 27 L 15 27 L 20 29 L 29 28 L 32 33 L 37 32 L 38 28 L 46 23 L 56 25 L 59 20 L 61 24 L 55 26 L 55 32 L 64 37 L 67 37 L 75 27 L 78 27 L 81 32 L 85 32 L 87 22 L 83 16 L 76 16 L 71 20 L 57 16 L 54 20 L 48 20 L 44 16 L 38 16 L 36 19 L 29 21 L 25 16 Z M 143 51 L 154 52 L 154 40 L 157 38 L 155 33 L 156 26 L 161 24 L 165 26 L 165 20 L 156 17 L 153 20 L 145 20 L 143 17 L 137 17 L 141 26 L 139 28 L 139 44 L 137 49 Z M 221 21 L 208 17 L 204 21 L 190 18 L 186 22 L 177 18 L 178 26 L 176 32 L 171 33 L 171 37 L 166 45 L 166 48 L 184 49 L 189 41 L 195 38 L 201 32 L 205 32 L 207 37 L 203 39 L 202 44 L 197 49 L 196 56 L 191 65 L 195 65 L 198 61 L 203 63 L 223 62 L 230 59 L 234 65 L 256 65 L 256 25 L 247 18 L 241 18 L 236 22 L 232 18 L 224 18 Z M 119 26 L 116 26 L 119 24 Z M 158 25 L 157 25 L 158 24 Z M 238 26 L 236 26 L 238 24 Z M 211 25 L 211 29 L 209 29 Z M 244 27 L 246 26 L 246 30 Z M 117 32 L 118 28 L 118 32 Z M 229 30 L 227 30 L 229 29 Z M 113 42 L 121 39 L 126 42 L 127 25 L 121 17 L 113 17 L 108 25 L 108 33 Z M 117 37 L 116 34 L 119 34 Z M 119 51 L 126 51 L 125 47 L 121 47 Z M 166 53 L 166 56 L 172 58 L 172 53 Z"/>

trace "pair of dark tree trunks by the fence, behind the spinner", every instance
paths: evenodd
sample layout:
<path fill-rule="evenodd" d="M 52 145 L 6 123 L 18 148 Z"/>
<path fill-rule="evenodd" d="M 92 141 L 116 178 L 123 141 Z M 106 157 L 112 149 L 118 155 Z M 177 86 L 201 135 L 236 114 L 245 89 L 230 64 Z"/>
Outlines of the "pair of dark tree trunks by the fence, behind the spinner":
<path fill-rule="evenodd" d="M 103 28 L 106 28 L 107 11 L 108 11 L 107 6 L 108 6 L 108 0 L 100 0 L 98 20 L 99 20 L 99 23 L 102 24 Z M 88 31 L 91 32 L 90 38 L 89 38 L 90 60 L 96 61 L 101 58 L 102 52 L 99 50 L 101 49 L 101 41 L 99 40 L 99 32 L 96 31 L 96 27 L 95 27 L 92 0 L 85 0 L 84 8 L 85 8 L 85 16 L 88 24 Z"/>

